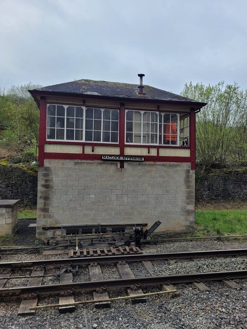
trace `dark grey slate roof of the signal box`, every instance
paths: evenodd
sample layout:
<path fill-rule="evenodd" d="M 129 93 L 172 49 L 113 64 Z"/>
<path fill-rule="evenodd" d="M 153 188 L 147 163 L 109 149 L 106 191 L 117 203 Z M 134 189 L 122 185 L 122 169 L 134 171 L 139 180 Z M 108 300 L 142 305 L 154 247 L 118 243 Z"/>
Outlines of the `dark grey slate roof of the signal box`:
<path fill-rule="evenodd" d="M 120 99 L 133 99 L 133 100 L 154 100 L 154 101 L 169 101 L 169 102 L 186 102 L 194 103 L 195 105 L 206 105 L 191 100 L 186 97 L 182 97 L 176 94 L 166 92 L 164 90 L 154 88 L 148 85 L 144 85 L 145 96 L 138 95 L 138 86 L 134 84 L 115 83 L 108 81 L 95 81 L 88 79 L 80 79 L 71 81 L 64 84 L 58 84 L 53 86 L 47 86 L 31 90 L 30 93 L 35 92 L 48 92 L 59 94 L 78 94 L 78 95 L 91 95 L 95 97 L 114 97 Z"/>

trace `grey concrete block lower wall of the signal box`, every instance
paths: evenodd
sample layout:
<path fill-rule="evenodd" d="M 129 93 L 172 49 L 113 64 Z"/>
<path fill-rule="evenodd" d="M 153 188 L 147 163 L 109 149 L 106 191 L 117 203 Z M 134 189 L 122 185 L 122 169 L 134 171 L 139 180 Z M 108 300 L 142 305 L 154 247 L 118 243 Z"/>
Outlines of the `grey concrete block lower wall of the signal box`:
<path fill-rule="evenodd" d="M 37 236 L 61 224 L 129 224 L 160 220 L 159 231 L 195 224 L 190 163 L 45 160 L 38 174 Z"/>

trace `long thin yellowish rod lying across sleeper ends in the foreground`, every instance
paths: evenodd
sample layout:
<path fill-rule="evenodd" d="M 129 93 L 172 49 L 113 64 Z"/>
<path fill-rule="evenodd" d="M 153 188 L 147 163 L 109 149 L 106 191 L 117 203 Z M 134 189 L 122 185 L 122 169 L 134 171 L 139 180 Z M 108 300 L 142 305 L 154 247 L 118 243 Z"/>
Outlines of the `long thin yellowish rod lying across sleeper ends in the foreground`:
<path fill-rule="evenodd" d="M 65 307 L 65 306 L 74 306 L 74 305 L 91 304 L 91 303 L 104 303 L 104 302 L 108 302 L 108 301 L 116 301 L 116 300 L 122 300 L 122 299 L 131 299 L 131 298 L 140 298 L 140 297 L 146 297 L 146 296 L 172 294 L 172 293 L 175 293 L 175 292 L 177 292 L 177 290 L 148 292 L 146 294 L 122 296 L 122 297 L 113 297 L 113 298 L 108 298 L 108 299 L 81 300 L 81 301 L 77 301 L 77 302 L 73 302 L 73 303 L 66 303 L 66 304 L 48 304 L 48 305 L 32 306 L 29 309 L 40 309 L 40 308 L 48 308 L 48 307 Z"/>

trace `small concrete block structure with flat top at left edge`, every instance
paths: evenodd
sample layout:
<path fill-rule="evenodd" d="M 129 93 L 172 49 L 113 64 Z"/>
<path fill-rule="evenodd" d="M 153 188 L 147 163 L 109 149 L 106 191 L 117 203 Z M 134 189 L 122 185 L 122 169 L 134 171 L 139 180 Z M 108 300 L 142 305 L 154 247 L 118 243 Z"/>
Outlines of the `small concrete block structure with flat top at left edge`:
<path fill-rule="evenodd" d="M 18 202 L 0 200 L 0 235 L 12 234 L 17 224 Z"/>

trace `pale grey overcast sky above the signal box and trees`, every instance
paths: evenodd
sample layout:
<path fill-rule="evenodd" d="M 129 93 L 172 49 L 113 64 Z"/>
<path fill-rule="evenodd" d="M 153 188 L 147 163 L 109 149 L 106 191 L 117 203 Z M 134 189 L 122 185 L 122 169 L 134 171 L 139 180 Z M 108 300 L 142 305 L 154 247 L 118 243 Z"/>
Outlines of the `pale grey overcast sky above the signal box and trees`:
<path fill-rule="evenodd" d="M 246 0 L 0 0 L 0 89 L 87 78 L 247 89 Z"/>

